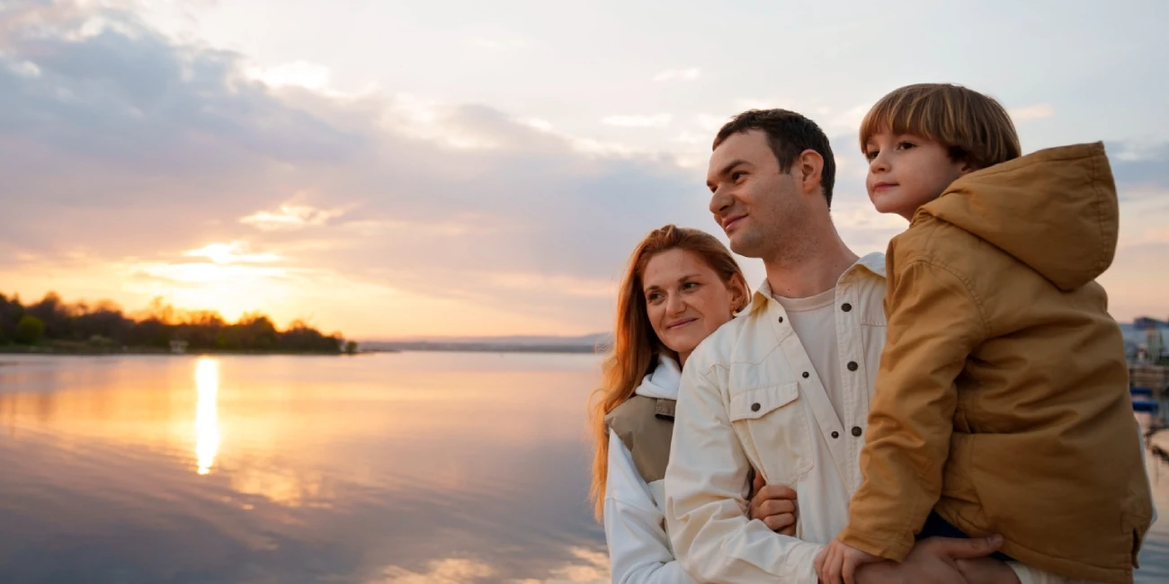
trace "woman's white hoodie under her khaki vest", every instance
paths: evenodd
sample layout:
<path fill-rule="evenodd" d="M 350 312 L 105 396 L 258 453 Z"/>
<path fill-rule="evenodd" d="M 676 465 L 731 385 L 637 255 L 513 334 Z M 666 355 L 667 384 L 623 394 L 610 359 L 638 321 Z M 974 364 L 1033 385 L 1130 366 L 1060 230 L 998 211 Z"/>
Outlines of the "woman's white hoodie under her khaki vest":
<path fill-rule="evenodd" d="M 680 382 L 678 363 L 663 355 L 635 392 L 677 399 Z M 665 533 L 664 481 L 646 484 L 629 449 L 613 430 L 604 486 L 604 536 L 614 584 L 696 584 L 675 559 Z"/>

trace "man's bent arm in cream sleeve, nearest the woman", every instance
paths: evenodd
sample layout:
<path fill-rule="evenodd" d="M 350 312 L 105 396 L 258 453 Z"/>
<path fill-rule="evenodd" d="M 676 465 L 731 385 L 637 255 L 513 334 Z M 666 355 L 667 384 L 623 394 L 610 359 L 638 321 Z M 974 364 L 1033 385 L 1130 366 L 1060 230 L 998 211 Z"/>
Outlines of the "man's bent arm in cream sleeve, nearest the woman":
<path fill-rule="evenodd" d="M 697 356 L 691 355 L 682 374 L 665 473 L 675 555 L 699 582 L 816 584 L 812 559 L 822 545 L 779 535 L 747 517 L 750 463 L 717 383 Z"/>

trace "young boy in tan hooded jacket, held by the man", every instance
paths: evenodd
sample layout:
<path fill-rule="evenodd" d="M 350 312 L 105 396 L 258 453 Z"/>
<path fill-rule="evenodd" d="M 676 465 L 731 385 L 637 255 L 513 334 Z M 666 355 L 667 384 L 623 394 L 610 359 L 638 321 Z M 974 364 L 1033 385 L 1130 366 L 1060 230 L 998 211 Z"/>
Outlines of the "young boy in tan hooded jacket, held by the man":
<path fill-rule="evenodd" d="M 909 85 L 865 117 L 890 243 L 864 482 L 821 556 L 825 584 L 916 537 L 1003 535 L 1053 575 L 1130 583 L 1153 503 L 1120 328 L 1094 281 L 1119 209 L 1102 144 L 1019 157 L 995 99 Z M 925 529 L 924 529 L 925 528 Z"/>

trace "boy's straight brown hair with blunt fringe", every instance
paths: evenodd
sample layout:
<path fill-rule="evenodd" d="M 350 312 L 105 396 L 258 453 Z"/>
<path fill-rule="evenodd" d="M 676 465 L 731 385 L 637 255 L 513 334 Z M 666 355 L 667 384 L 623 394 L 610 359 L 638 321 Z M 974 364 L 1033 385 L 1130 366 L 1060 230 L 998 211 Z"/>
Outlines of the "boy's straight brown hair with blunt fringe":
<path fill-rule="evenodd" d="M 919 83 L 880 98 L 860 123 L 860 151 L 877 133 L 938 141 L 953 160 L 985 168 L 1022 155 L 1015 124 L 995 98 L 950 83 Z"/>

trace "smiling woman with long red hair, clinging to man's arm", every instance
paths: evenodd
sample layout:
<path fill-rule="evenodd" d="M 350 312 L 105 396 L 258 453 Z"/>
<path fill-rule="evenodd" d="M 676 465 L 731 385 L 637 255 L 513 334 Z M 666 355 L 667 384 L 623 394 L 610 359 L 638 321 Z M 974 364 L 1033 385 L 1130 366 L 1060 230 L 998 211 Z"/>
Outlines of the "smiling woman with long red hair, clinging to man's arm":
<path fill-rule="evenodd" d="M 589 419 L 596 442 L 592 494 L 604 521 L 613 582 L 692 584 L 665 533 L 662 479 L 673 404 L 686 357 L 747 306 L 749 290 L 714 236 L 665 225 L 634 250 L 618 294 L 613 350 Z M 750 515 L 791 533 L 790 499 L 766 487 L 753 498 Z"/>

